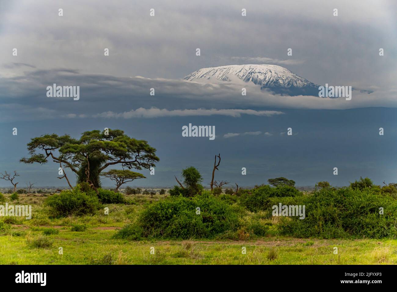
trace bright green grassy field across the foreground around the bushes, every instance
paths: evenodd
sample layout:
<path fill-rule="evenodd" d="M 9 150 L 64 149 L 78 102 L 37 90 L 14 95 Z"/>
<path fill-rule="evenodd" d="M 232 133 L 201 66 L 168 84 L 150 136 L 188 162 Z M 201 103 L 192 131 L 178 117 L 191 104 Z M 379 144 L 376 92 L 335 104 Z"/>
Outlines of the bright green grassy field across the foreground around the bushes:
<path fill-rule="evenodd" d="M 134 195 L 137 201 L 156 201 Z M 320 240 L 288 238 L 270 233 L 241 241 L 172 240 L 129 241 L 112 236 L 136 219 L 143 205 L 108 205 L 109 215 L 49 219 L 44 196 L 21 195 L 19 203 L 32 205 L 31 220 L 4 217 L 9 224 L 0 235 L 1 264 L 396 264 L 397 240 Z M 9 202 L 9 204 L 11 204 Z M 82 232 L 71 226 L 87 226 Z M 48 228 L 57 234 L 43 235 Z M 51 229 L 51 230 L 52 230 Z M 40 246 L 40 247 L 37 247 Z M 337 247 L 337 254 L 334 254 Z M 62 254 L 59 253 L 62 248 Z M 154 248 L 154 254 L 150 253 Z M 243 248 L 246 253 L 243 254 Z"/>

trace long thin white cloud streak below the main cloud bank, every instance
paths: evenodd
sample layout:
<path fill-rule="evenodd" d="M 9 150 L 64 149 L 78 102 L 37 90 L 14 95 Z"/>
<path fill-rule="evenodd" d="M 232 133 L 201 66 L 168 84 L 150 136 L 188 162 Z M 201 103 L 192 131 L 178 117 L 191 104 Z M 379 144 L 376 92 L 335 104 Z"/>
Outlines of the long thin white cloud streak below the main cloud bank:
<path fill-rule="evenodd" d="M 240 110 L 240 109 L 215 109 L 206 110 L 204 108 L 198 109 L 184 109 L 184 110 L 168 110 L 166 108 L 138 108 L 136 110 L 130 110 L 129 112 L 116 113 L 112 111 L 102 112 L 100 114 L 94 114 L 93 118 L 160 118 L 160 117 L 172 117 L 172 116 L 231 116 L 240 117 L 241 114 L 248 114 L 254 116 L 274 116 L 283 114 L 276 110 Z M 74 117 L 73 117 L 74 118 Z"/>

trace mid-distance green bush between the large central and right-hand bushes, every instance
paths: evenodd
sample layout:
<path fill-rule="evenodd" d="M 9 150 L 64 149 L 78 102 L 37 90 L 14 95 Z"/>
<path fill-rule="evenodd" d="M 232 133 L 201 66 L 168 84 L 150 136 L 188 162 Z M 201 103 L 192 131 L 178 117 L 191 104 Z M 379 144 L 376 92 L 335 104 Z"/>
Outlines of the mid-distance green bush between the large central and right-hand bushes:
<path fill-rule="evenodd" d="M 281 185 L 272 188 L 268 185 L 262 185 L 252 190 L 245 190 L 240 197 L 239 204 L 251 212 L 260 210 L 267 211 L 274 205 L 271 202 L 272 197 L 295 197 L 300 195 L 302 195 L 302 193 L 293 186 Z"/>

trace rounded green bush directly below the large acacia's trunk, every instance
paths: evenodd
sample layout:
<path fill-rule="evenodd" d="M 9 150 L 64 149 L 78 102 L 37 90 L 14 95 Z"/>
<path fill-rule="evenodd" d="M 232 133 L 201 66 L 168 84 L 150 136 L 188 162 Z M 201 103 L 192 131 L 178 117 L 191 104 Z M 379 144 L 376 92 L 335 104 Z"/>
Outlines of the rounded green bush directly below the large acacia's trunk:
<path fill-rule="evenodd" d="M 100 208 L 98 197 L 87 195 L 77 185 L 74 190 L 62 191 L 48 197 L 44 204 L 50 207 L 54 217 L 67 217 L 94 214 Z"/>

